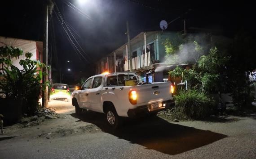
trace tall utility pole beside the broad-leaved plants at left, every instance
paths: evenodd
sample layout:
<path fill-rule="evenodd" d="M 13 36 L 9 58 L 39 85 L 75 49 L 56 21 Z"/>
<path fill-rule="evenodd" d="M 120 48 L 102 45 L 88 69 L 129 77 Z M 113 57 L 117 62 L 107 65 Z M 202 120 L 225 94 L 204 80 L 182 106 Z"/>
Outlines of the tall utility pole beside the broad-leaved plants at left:
<path fill-rule="evenodd" d="M 46 72 L 46 75 L 43 76 L 43 84 L 49 82 L 48 79 L 48 13 L 49 13 L 49 6 L 48 1 L 45 4 L 45 13 L 44 13 L 44 42 L 43 42 L 43 63 L 46 67 L 43 68 L 43 71 Z M 45 90 L 43 90 L 43 99 L 42 99 L 42 106 L 44 108 L 48 107 L 48 86 L 46 86 Z"/>

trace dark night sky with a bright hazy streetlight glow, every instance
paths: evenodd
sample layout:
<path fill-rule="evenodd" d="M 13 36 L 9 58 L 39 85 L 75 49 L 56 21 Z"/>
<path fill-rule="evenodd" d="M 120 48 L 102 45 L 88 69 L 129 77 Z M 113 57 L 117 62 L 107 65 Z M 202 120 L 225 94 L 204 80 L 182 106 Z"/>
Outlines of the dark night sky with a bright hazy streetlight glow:
<path fill-rule="evenodd" d="M 231 3 L 232 2 L 232 3 Z M 232 37 L 244 29 L 255 36 L 255 5 L 245 2 L 185 2 L 173 0 L 55 0 L 49 21 L 49 52 L 52 65 L 64 75 L 82 71 L 95 73 L 93 63 L 127 42 L 126 21 L 131 38 L 141 31 L 159 30 L 159 22 L 180 17 L 169 31 L 211 29 Z M 43 41 L 45 0 L 1 0 L 0 36 Z M 72 42 L 66 31 L 72 34 Z M 73 37 L 74 36 L 74 37 Z M 78 45 L 81 46 L 79 46 Z M 81 55 L 82 54 L 82 55 Z M 70 60 L 70 63 L 67 63 Z"/>

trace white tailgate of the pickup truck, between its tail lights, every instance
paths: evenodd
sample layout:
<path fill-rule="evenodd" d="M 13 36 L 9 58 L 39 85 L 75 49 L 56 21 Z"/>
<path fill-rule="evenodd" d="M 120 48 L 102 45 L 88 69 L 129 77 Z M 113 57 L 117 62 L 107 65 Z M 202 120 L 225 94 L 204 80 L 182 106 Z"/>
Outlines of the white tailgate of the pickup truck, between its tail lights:
<path fill-rule="evenodd" d="M 159 82 L 136 86 L 137 105 L 153 104 L 164 100 L 172 100 L 171 82 Z"/>

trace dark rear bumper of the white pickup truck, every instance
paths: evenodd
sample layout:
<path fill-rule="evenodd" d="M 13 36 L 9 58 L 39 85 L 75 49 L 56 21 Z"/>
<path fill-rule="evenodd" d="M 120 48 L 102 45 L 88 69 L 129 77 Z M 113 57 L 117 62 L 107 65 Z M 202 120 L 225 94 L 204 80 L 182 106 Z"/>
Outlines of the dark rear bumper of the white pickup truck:
<path fill-rule="evenodd" d="M 159 111 L 162 111 L 164 109 L 169 109 L 171 107 L 174 107 L 174 101 L 173 100 L 165 100 L 162 102 L 163 104 L 165 104 L 165 107 L 160 107 L 159 109 L 155 109 L 155 110 L 149 110 L 149 106 L 150 105 L 141 105 L 138 106 L 135 109 L 129 109 L 127 112 L 128 117 L 141 117 L 141 116 L 145 116 L 146 114 L 150 114 L 150 113 L 156 113 Z"/>

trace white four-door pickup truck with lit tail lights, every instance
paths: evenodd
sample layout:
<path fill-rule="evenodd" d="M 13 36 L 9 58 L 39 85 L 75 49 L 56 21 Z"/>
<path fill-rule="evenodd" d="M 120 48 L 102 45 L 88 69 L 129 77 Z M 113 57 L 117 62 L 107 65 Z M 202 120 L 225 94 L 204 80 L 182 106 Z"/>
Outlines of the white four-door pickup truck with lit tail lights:
<path fill-rule="evenodd" d="M 174 104 L 171 82 L 139 83 L 133 86 L 126 79 L 139 81 L 135 72 L 116 72 L 94 75 L 86 80 L 81 90 L 72 95 L 75 113 L 83 110 L 105 113 L 111 127 L 120 125 L 120 117 L 137 117 L 157 112 Z"/>

